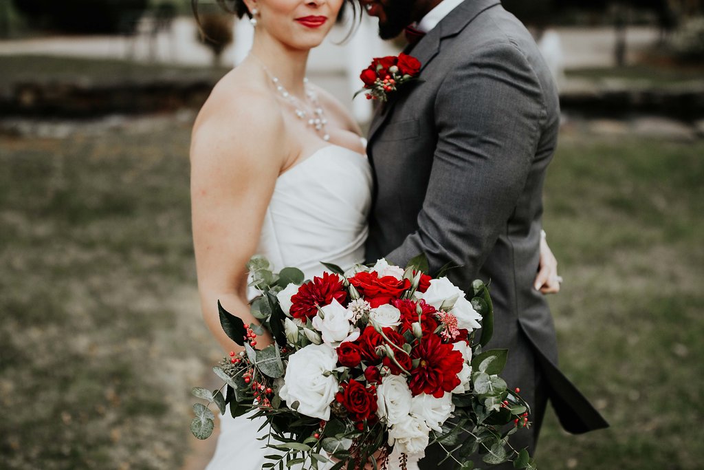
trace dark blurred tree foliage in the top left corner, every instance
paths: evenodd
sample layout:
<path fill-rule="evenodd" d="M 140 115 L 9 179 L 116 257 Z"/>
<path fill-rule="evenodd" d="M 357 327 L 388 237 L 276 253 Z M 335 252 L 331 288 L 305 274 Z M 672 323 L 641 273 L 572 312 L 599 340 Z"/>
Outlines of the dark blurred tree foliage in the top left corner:
<path fill-rule="evenodd" d="M 149 0 L 12 0 L 32 20 L 64 32 L 120 32 L 125 17 L 139 18 Z"/>

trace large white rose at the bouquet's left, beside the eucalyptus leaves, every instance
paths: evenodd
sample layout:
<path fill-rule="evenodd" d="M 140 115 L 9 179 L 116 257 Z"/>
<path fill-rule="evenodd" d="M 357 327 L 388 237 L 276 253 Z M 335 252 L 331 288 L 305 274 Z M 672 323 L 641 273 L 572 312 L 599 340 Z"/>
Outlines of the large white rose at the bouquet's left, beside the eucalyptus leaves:
<path fill-rule="evenodd" d="M 279 397 L 289 406 L 298 402 L 298 412 L 313 418 L 330 419 L 337 379 L 328 374 L 337 366 L 337 352 L 329 345 L 308 345 L 289 357 L 284 386 Z"/>

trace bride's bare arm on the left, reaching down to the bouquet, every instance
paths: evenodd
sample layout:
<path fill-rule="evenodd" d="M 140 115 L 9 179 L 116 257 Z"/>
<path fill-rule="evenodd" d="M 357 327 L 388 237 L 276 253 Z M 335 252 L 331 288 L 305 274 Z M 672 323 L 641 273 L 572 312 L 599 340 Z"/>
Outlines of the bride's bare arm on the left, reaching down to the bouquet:
<path fill-rule="evenodd" d="M 256 323 L 246 298 L 245 264 L 285 155 L 284 124 L 267 96 L 238 93 L 209 100 L 191 140 L 191 217 L 201 309 L 225 352 L 239 351 L 220 326 L 218 300 L 244 323 Z M 212 99 L 213 97 L 211 97 Z M 236 103 L 236 104 L 235 104 Z M 268 137 L 269 136 L 269 137 Z M 270 342 L 258 338 L 258 347 Z"/>

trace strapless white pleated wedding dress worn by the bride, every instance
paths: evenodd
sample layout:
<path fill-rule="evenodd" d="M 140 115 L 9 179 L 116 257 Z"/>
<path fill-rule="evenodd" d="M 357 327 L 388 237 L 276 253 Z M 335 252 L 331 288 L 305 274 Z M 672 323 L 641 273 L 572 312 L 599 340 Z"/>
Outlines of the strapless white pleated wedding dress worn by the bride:
<path fill-rule="evenodd" d="M 273 268 L 299 268 L 306 279 L 319 276 L 320 261 L 349 268 L 364 261 L 367 214 L 372 202 L 372 171 L 366 157 L 327 145 L 285 171 L 277 180 L 264 218 L 258 254 Z M 259 470 L 274 454 L 256 440 L 264 419 L 220 416 L 220 436 L 206 470 Z M 392 454 L 391 468 L 398 457 Z M 409 459 L 408 469 L 417 468 Z M 321 466 L 322 468 L 322 466 Z"/>

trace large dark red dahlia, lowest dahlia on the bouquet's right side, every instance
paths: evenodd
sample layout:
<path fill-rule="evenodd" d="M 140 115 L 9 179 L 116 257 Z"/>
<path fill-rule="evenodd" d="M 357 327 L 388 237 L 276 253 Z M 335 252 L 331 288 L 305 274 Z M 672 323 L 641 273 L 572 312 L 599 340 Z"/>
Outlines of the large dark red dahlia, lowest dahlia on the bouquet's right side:
<path fill-rule="evenodd" d="M 462 353 L 440 342 L 437 335 L 423 337 L 410 354 L 413 359 L 420 359 L 418 366 L 410 371 L 408 385 L 414 397 L 426 393 L 441 398 L 460 385 L 457 374 L 464 363 Z"/>

